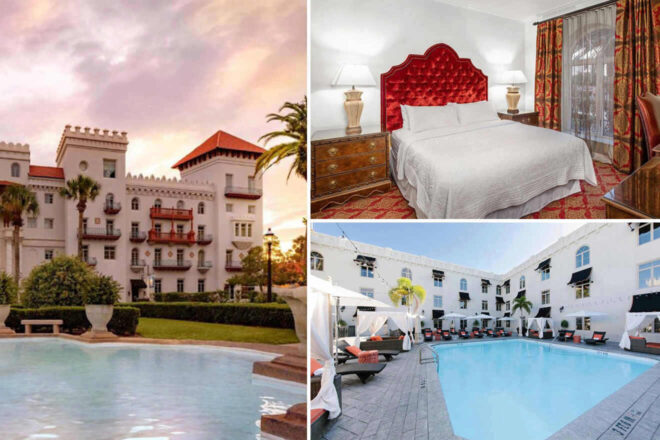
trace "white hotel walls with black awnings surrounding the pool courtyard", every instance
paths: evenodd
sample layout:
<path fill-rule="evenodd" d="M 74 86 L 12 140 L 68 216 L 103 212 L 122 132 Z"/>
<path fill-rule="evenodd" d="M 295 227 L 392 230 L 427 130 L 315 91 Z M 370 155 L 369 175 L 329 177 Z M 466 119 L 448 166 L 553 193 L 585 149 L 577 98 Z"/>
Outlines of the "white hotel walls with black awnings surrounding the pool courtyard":
<path fill-rule="evenodd" d="M 345 238 L 313 232 L 310 274 L 388 304 L 388 290 L 409 277 L 426 290 L 425 327 L 449 328 L 451 321 L 433 318 L 450 312 L 509 316 L 514 298 L 525 295 L 533 304 L 531 317 L 550 317 L 555 329 L 565 319 L 582 337 L 599 330 L 618 341 L 633 296 L 660 292 L 660 223 L 589 223 L 504 274 L 353 242 L 358 251 Z M 580 310 L 607 315 L 566 317 Z M 355 312 L 346 307 L 340 318 L 355 326 Z M 488 326 L 506 327 L 501 324 Z M 516 327 L 513 321 L 510 329 Z M 660 322 L 643 336 L 660 342 Z"/>

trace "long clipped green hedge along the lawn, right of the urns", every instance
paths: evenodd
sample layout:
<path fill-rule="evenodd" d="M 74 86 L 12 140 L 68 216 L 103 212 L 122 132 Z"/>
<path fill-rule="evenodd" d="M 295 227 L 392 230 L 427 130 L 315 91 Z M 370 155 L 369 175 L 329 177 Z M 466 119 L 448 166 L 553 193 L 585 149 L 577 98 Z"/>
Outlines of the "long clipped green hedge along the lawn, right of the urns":
<path fill-rule="evenodd" d="M 294 328 L 293 314 L 286 304 L 171 302 L 132 303 L 131 307 L 140 309 L 140 316 L 145 318 Z"/>

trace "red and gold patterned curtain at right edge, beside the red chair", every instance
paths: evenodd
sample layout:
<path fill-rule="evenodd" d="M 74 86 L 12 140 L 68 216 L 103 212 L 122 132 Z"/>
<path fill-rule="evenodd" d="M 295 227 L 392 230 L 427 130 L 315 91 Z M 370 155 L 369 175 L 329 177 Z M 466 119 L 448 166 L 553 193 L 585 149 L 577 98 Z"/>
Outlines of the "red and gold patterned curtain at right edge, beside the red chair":
<path fill-rule="evenodd" d="M 658 93 L 660 0 L 618 0 L 614 49 L 614 167 L 630 173 L 646 160 L 635 97 Z"/>

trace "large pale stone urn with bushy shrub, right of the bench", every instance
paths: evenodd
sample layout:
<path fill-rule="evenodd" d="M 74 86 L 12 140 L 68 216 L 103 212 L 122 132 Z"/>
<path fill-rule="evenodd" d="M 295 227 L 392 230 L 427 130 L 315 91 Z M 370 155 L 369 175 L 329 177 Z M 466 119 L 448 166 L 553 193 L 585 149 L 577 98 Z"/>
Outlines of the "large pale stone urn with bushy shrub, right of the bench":
<path fill-rule="evenodd" d="M 91 330 L 83 335 L 90 339 L 116 338 L 108 331 L 112 319 L 114 303 L 119 299 L 120 286 L 112 277 L 99 275 L 90 283 L 85 295 L 85 315 L 92 324 Z"/>

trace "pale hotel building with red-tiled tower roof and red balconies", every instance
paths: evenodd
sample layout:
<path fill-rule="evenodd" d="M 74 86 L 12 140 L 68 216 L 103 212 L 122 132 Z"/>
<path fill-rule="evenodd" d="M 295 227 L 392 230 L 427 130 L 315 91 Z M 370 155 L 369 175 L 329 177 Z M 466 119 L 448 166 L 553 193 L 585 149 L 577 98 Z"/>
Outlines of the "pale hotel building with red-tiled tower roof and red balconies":
<path fill-rule="evenodd" d="M 77 253 L 76 201 L 59 190 L 84 174 L 101 185 L 85 211 L 84 258 L 122 285 L 123 301 L 225 288 L 262 242 L 254 166 L 264 150 L 218 131 L 174 164 L 181 178 L 170 179 L 127 173 L 128 144 L 126 132 L 67 125 L 57 166 L 45 167 L 31 164 L 28 145 L 0 142 L 0 185 L 27 185 L 39 202 L 21 229 L 21 277 L 54 255 Z M 0 228 L 0 270 L 12 273 L 12 227 Z"/>

